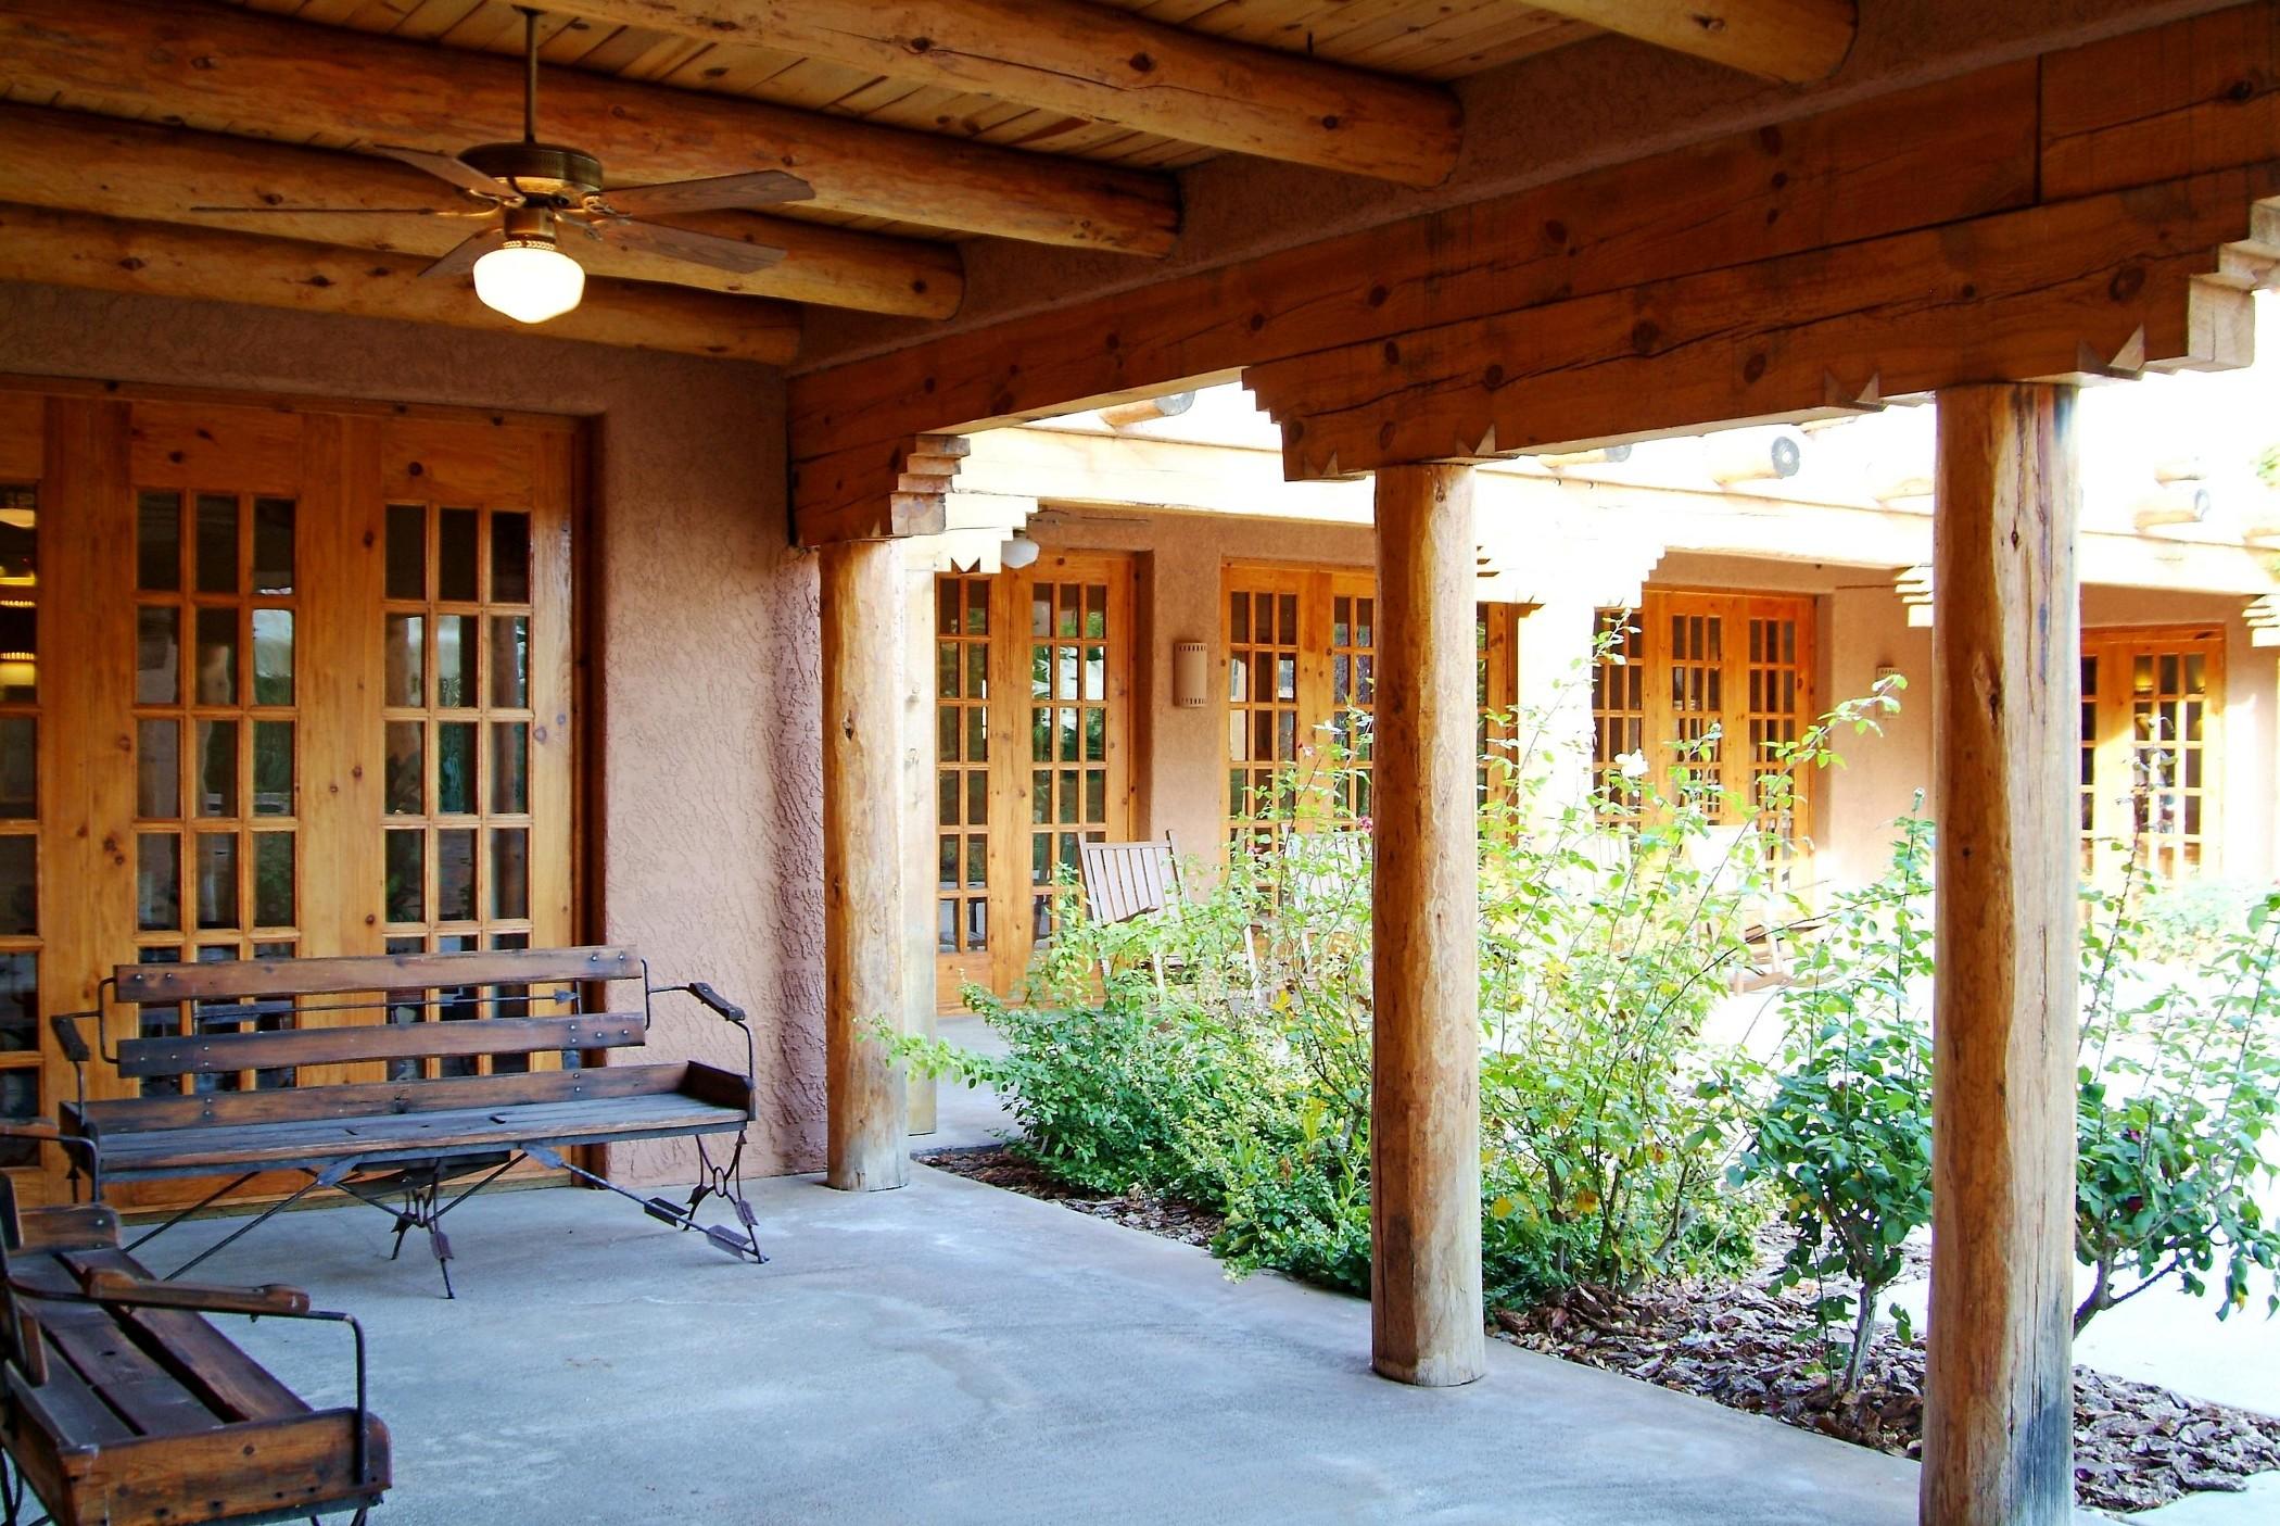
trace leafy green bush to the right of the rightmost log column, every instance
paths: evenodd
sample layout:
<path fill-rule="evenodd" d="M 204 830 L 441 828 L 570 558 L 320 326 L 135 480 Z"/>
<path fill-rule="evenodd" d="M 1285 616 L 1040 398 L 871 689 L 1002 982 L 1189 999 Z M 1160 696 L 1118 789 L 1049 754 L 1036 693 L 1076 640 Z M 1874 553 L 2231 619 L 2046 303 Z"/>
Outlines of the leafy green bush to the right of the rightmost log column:
<path fill-rule="evenodd" d="M 2093 1282 L 2077 1334 L 2171 1277 L 2198 1296 L 2218 1275 L 2218 1318 L 2262 1280 L 2280 1312 L 2280 1227 L 2255 1195 L 2280 1172 L 2280 894 L 2198 967 L 2148 981 L 2141 876 L 2132 853 L 2114 890 L 2084 892 L 2075 1259 Z"/>

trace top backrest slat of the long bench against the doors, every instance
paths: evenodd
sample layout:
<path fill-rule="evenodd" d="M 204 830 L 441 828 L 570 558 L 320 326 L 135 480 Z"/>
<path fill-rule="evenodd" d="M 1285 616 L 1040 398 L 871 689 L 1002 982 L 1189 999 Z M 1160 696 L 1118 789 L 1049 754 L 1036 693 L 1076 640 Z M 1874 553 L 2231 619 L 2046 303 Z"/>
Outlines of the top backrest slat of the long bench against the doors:
<path fill-rule="evenodd" d="M 641 953 L 620 947 L 342 953 L 326 958 L 249 958 L 214 965 L 119 965 L 112 979 L 119 1001 L 153 1006 L 171 1001 L 230 1001 L 237 997 L 337 997 L 353 990 L 634 981 L 641 979 Z"/>

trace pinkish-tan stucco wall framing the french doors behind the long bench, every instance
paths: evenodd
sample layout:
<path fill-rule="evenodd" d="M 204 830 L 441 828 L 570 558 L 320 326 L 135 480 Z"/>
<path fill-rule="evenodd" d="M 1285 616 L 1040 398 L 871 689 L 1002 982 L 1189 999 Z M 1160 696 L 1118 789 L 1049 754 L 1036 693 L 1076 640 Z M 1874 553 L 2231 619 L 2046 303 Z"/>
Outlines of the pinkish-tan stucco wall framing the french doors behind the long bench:
<path fill-rule="evenodd" d="M 572 413 L 597 443 L 597 937 L 741 999 L 762 1040 L 757 1170 L 823 1150 L 816 577 L 787 550 L 777 372 L 374 319 L 0 283 L 0 372 Z M 657 1058 L 743 1063 L 668 997 Z M 636 1145 L 625 1179 L 686 1177 Z"/>

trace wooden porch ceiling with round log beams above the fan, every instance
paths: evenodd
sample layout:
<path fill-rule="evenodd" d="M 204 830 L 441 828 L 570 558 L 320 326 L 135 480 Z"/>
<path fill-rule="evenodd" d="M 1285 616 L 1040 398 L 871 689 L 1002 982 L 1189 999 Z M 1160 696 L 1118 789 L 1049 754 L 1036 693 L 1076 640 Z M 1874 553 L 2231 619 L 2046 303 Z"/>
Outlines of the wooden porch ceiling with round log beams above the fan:
<path fill-rule="evenodd" d="M 1829 75 L 1854 0 L 563 0 L 538 25 L 538 132 L 611 187 L 789 169 L 812 201 L 670 219 L 784 251 L 718 271 L 581 249 L 609 283 L 702 287 L 720 328 L 798 312 L 757 299 L 942 319 L 955 237 L 1161 258 L 1172 171 L 1222 153 L 1436 185 L 1464 146 L 1448 82 L 1612 30 L 1772 80 Z M 16 240 L 0 278 L 367 310 L 399 269 L 340 274 L 308 246 L 433 258 L 470 224 L 440 180 L 376 144 L 456 155 L 520 137 L 522 16 L 508 0 L 16 0 L 0 9 L 0 203 L 128 224 Z M 253 208 L 198 212 L 194 208 Z M 310 208 L 269 214 L 264 208 Z M 378 217 L 388 208 L 408 217 Z M 180 233 L 160 235 L 157 226 Z M 255 235 L 251 251 L 217 235 Z M 294 253 L 301 251 L 301 253 Z M 292 276 L 292 260 L 312 271 Z M 714 297 L 739 301 L 714 301 Z M 620 297 L 638 317 L 643 294 Z M 292 303 L 301 306 L 301 303 Z M 420 303 L 369 310 L 415 315 Z M 451 322 L 433 317 L 431 322 Z M 483 322 L 483 319 L 470 319 Z M 673 328 L 666 324 L 666 328 Z M 686 338 L 606 335 L 691 349 Z M 789 360 L 780 347 L 695 349 Z"/>

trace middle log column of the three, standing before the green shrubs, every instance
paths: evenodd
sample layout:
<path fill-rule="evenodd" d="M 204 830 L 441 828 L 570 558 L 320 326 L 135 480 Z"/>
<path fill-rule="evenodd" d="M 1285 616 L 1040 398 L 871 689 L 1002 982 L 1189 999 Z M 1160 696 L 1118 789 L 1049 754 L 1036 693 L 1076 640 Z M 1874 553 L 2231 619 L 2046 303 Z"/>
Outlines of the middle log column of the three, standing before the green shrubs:
<path fill-rule="evenodd" d="M 1473 545 L 1471 468 L 1377 472 L 1370 1353 L 1425 1387 L 1487 1371 Z"/>

